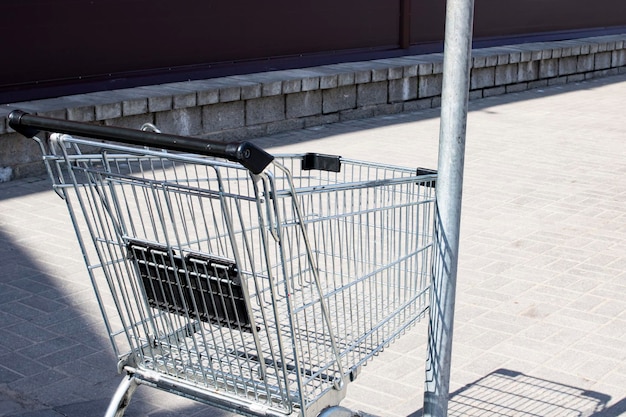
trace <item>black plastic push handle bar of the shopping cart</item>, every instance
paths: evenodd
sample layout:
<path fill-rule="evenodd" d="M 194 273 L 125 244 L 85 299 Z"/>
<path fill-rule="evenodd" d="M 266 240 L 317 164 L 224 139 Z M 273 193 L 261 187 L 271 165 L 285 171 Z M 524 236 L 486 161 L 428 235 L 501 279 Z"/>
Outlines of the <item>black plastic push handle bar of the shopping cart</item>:
<path fill-rule="evenodd" d="M 12 111 L 8 119 L 11 128 L 28 138 L 32 138 L 40 130 L 44 130 L 131 145 L 152 146 L 172 151 L 216 156 L 239 162 L 253 174 L 260 174 L 274 160 L 274 156 L 250 142 L 223 143 L 188 136 L 146 132 L 115 126 L 101 126 L 35 116 L 22 110 Z"/>

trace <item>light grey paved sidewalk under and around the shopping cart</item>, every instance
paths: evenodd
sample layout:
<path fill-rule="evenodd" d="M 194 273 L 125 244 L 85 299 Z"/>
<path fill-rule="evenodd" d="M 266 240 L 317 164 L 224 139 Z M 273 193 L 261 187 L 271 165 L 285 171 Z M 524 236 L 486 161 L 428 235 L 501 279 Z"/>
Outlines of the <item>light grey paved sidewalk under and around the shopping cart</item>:
<path fill-rule="evenodd" d="M 470 103 L 450 416 L 626 415 L 626 75 Z M 435 168 L 439 109 L 266 137 Z M 102 415 L 119 383 L 64 202 L 0 184 L 0 416 Z M 426 327 L 342 405 L 421 415 Z M 141 387 L 127 416 L 230 416 Z"/>

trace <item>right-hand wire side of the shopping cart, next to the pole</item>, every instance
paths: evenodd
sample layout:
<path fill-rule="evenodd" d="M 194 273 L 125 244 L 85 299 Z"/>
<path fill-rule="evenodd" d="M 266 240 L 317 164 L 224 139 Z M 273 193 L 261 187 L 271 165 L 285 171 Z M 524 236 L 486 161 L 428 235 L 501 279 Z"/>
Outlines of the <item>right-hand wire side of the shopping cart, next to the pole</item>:
<path fill-rule="evenodd" d="M 427 311 L 434 176 L 416 179 L 414 169 L 350 160 L 341 160 L 336 173 L 303 170 L 298 156 L 281 162 L 295 188 L 289 190 L 288 175 L 276 179 L 284 181 L 276 186 L 285 190 L 277 199 L 283 240 L 291 259 L 305 256 L 298 237 L 289 233 L 299 221 L 291 201 L 296 194 L 343 368 L 358 372 Z M 292 295 L 294 304 L 307 306 L 313 297 L 306 293 L 310 283 L 299 279 L 302 264 L 288 267 L 292 287 L 302 288 Z"/>

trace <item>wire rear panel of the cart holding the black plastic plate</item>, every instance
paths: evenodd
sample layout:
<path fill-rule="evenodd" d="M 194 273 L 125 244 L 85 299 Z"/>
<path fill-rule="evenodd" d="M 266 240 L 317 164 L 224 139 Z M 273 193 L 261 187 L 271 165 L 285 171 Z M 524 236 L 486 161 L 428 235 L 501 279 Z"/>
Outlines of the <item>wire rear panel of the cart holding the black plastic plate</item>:
<path fill-rule="evenodd" d="M 279 251 L 269 250 L 265 203 L 246 170 L 173 155 L 67 159 L 63 182 L 77 186 L 63 190 L 91 236 L 88 266 L 120 358 L 284 414 L 334 389 L 328 375 L 340 373 L 328 348 L 309 368 L 295 365 L 291 328 L 278 314 L 285 291 L 268 267 Z"/>

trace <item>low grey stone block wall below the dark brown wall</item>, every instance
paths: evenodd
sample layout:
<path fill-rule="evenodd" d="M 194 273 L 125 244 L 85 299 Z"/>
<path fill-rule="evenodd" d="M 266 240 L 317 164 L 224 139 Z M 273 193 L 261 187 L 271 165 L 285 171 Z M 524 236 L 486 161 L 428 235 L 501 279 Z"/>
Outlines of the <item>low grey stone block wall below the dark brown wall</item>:
<path fill-rule="evenodd" d="M 470 98 L 626 73 L 626 34 L 478 49 Z M 42 116 L 240 141 L 441 104 L 443 54 L 405 56 L 138 87 L 0 107 L 2 179 L 43 172 L 38 148 L 7 125 Z"/>

